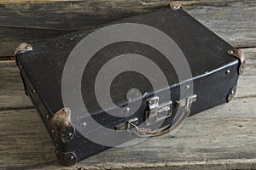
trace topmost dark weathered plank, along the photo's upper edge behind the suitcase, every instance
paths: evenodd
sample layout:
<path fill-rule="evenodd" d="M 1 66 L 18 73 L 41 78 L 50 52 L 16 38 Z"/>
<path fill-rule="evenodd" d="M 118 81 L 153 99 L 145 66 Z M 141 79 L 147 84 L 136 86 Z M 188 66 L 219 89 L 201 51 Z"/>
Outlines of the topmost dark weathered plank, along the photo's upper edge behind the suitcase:
<path fill-rule="evenodd" d="M 242 8 L 253 7 L 255 5 L 255 2 L 252 0 L 247 0 L 243 3 L 236 3 L 234 0 L 180 2 L 188 10 L 218 8 L 223 11 L 228 9 L 229 12 L 234 10 L 234 8 L 241 10 Z M 167 6 L 169 3 L 170 1 L 168 0 L 76 0 L 39 1 L 39 3 L 38 1 L 30 1 L 29 3 L 27 1 L 20 1 L 20 3 L 15 3 L 15 1 L 12 1 L 12 3 L 0 2 L 2 7 L 0 26 L 77 30 L 84 26 L 99 26 L 109 20 L 117 20 L 133 14 L 149 12 L 155 8 Z M 248 10 L 247 13 L 250 13 L 251 9 L 249 8 Z M 235 16 L 237 14 L 233 15 L 232 18 Z"/>

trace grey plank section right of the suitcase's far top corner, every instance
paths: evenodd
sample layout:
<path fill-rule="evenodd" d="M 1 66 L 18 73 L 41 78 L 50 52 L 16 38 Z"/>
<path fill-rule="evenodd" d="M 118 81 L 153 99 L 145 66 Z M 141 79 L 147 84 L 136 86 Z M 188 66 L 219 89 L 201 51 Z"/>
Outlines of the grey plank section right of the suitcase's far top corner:
<path fill-rule="evenodd" d="M 256 2 L 213 2 L 204 7 L 198 3 L 188 12 L 234 47 L 256 47 Z"/>

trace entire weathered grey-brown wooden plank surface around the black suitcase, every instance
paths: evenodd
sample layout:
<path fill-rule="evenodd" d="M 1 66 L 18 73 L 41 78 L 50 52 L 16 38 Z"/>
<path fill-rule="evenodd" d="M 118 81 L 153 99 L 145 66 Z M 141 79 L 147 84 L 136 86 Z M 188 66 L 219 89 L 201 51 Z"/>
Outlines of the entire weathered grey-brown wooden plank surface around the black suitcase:
<path fill-rule="evenodd" d="M 0 56 L 34 42 L 160 8 L 169 1 L 0 0 Z M 183 8 L 247 55 L 229 104 L 189 117 L 175 135 L 147 139 L 61 166 L 18 69 L 0 62 L 0 169 L 256 169 L 256 2 L 180 1 Z"/>

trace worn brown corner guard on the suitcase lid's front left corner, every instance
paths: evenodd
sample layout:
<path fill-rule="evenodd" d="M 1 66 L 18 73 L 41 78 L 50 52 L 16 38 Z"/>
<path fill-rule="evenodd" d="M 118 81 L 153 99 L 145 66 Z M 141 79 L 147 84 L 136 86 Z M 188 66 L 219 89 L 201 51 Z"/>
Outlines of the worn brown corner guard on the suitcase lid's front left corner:
<path fill-rule="evenodd" d="M 68 142 L 73 139 L 75 128 L 72 125 L 70 116 L 70 109 L 65 107 L 57 111 L 50 120 L 56 139 L 62 140 L 62 142 Z"/>

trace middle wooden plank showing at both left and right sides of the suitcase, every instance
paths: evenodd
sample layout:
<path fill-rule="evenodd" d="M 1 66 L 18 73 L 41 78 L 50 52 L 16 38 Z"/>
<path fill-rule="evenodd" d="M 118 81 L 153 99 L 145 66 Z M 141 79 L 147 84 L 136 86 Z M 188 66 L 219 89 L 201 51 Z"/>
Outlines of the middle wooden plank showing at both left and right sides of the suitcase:
<path fill-rule="evenodd" d="M 241 75 L 236 98 L 256 96 L 256 48 L 242 49 L 247 56 L 247 65 Z M 26 97 L 19 70 L 15 62 L 0 62 L 0 110 L 15 108 L 32 108 L 32 103 Z"/>

